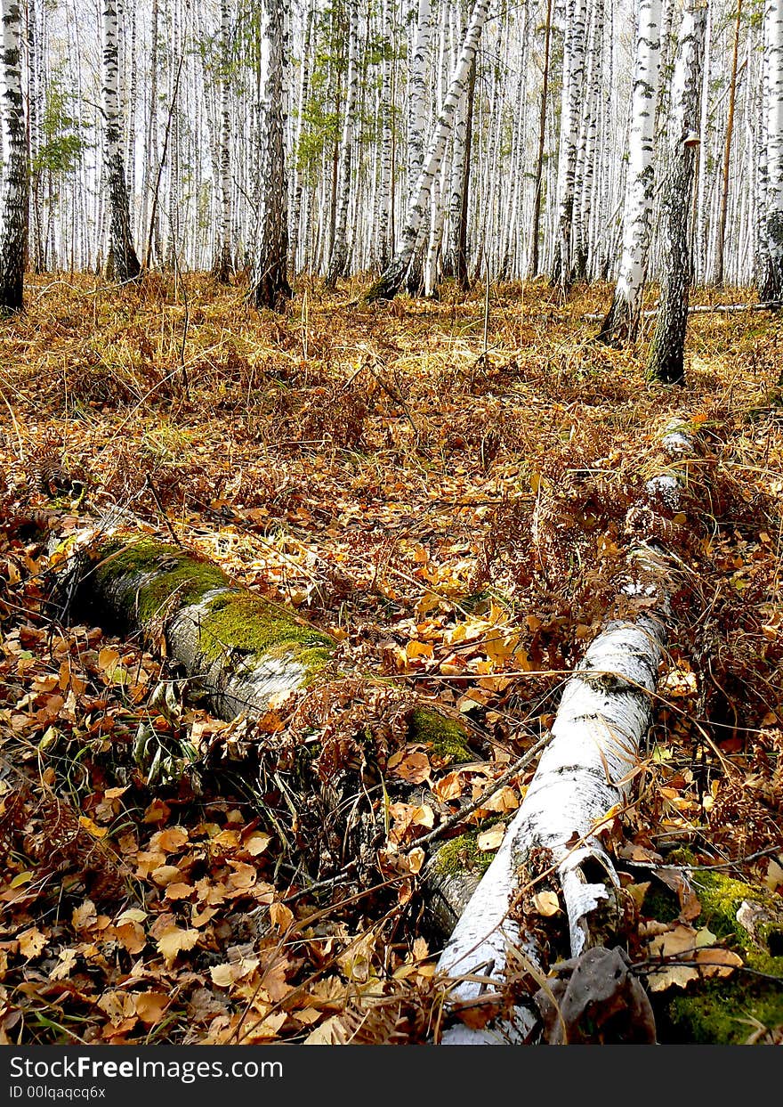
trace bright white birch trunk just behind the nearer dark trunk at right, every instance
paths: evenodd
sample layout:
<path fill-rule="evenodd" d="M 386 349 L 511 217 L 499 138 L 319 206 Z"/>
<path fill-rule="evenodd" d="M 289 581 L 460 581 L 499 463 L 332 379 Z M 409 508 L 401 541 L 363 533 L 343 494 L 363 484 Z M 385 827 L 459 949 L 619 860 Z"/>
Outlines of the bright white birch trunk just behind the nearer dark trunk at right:
<path fill-rule="evenodd" d="M 628 176 L 623 214 L 623 256 L 612 307 L 598 338 L 634 339 L 647 278 L 652 193 L 656 101 L 660 72 L 660 0 L 639 0 L 628 136 Z"/>

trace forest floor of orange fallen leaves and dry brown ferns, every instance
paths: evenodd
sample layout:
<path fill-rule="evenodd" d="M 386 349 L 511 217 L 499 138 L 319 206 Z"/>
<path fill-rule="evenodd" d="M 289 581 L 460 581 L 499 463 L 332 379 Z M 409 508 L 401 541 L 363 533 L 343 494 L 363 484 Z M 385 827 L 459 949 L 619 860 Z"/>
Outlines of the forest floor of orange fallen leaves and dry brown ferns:
<path fill-rule="evenodd" d="M 656 921 L 634 861 L 687 848 L 783 893 L 780 320 L 692 315 L 688 386 L 662 387 L 645 379 L 649 333 L 594 341 L 606 286 L 565 307 L 542 283 L 493 288 L 487 319 L 480 288 L 352 307 L 358 288 L 303 283 L 274 317 L 206 276 L 121 290 L 42 276 L 0 325 L 2 1043 L 437 1034 L 416 841 L 488 793 L 466 824 L 497 849 L 534 766 L 488 785 L 551 726 L 672 418 L 698 433 L 711 499 L 678 520 L 687 583 L 635 798 L 607 838 L 631 862 L 631 955 Z M 376 886 L 338 869 L 309 889 L 296 797 L 232 759 L 238 727 L 163 711 L 155 643 L 58 619 L 30 521 L 81 532 L 112 504 L 469 725 L 473 762 L 390 758 L 434 800 L 385 813 Z M 274 711 L 259 725 L 284 733 Z M 195 751 L 178 785 L 134 767 L 149 726 Z"/>

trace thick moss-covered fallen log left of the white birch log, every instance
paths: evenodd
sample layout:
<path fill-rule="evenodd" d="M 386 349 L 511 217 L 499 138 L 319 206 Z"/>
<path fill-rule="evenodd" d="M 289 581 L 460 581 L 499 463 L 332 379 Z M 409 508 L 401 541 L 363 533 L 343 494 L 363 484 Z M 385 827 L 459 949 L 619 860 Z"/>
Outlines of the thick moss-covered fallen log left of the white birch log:
<path fill-rule="evenodd" d="M 333 638 L 289 608 L 237 584 L 192 551 L 137 532 L 118 532 L 95 539 L 70 563 L 76 573 L 71 591 L 79 617 L 86 614 L 163 648 L 187 673 L 191 693 L 218 718 L 258 717 L 272 697 L 284 699 L 332 679 L 358 676 L 364 686 L 382 683 L 341 671 Z M 437 704 L 417 702 L 413 695 L 410 700 L 411 708 L 400 716 L 400 745 L 421 743 L 445 765 L 476 761 L 461 722 Z M 184 758 L 161 756 L 155 742 L 150 752 L 147 735 L 143 737 L 137 746 L 145 770 L 155 763 L 170 766 L 165 776 L 181 772 Z M 432 925 L 443 937 L 486 867 L 469 863 L 466 855 L 460 869 L 461 857 L 452 842 L 438 846 L 424 880 Z"/>

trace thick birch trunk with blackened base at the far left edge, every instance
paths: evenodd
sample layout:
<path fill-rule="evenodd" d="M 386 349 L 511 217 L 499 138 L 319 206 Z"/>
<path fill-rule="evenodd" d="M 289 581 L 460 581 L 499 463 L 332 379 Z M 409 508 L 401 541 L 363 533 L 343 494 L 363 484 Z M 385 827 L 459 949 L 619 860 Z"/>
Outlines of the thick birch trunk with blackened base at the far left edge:
<path fill-rule="evenodd" d="M 4 84 L 3 130 L 8 149 L 0 232 L 0 311 L 14 312 L 21 311 L 24 307 L 30 185 L 19 49 L 21 38 L 19 0 L 2 0 L 0 10 Z"/>

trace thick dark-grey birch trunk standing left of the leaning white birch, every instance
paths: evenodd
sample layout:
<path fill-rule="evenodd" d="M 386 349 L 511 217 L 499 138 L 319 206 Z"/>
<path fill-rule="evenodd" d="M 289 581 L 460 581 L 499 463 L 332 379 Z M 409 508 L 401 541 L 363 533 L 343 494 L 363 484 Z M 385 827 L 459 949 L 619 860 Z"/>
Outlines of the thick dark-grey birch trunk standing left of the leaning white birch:
<path fill-rule="evenodd" d="M 291 298 L 285 174 L 285 66 L 289 0 L 259 4 L 259 210 L 251 278 L 258 308 L 281 311 Z"/>

